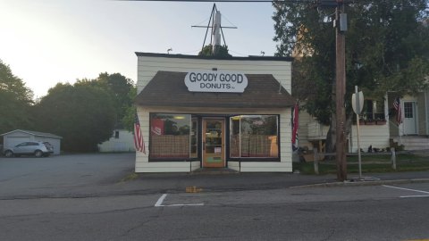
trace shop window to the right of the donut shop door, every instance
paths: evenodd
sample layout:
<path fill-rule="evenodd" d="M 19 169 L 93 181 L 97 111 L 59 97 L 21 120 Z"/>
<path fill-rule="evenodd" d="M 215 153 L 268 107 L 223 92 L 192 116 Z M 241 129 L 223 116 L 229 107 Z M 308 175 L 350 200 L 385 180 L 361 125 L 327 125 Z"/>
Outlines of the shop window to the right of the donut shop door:
<path fill-rule="evenodd" d="M 233 116 L 230 123 L 231 157 L 279 156 L 277 116 Z"/>

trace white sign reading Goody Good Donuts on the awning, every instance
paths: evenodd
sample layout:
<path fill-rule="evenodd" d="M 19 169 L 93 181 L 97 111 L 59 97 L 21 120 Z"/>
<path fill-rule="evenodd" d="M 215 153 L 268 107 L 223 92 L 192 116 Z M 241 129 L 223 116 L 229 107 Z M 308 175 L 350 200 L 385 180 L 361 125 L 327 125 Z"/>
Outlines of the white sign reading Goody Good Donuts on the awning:
<path fill-rule="evenodd" d="M 185 85 L 191 92 L 243 93 L 248 78 L 243 73 L 224 71 L 190 71 Z"/>

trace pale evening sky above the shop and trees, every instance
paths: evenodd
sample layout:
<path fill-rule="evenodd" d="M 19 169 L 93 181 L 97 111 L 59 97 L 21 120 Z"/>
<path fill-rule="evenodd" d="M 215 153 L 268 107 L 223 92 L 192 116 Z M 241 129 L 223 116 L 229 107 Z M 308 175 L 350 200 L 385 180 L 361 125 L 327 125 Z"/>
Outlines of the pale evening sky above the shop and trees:
<path fill-rule="evenodd" d="M 0 0 L 0 60 L 34 92 L 116 73 L 137 82 L 135 52 L 198 54 L 213 2 Z M 216 2 L 233 56 L 275 53 L 271 3 Z M 210 37 L 207 36 L 206 44 Z"/>

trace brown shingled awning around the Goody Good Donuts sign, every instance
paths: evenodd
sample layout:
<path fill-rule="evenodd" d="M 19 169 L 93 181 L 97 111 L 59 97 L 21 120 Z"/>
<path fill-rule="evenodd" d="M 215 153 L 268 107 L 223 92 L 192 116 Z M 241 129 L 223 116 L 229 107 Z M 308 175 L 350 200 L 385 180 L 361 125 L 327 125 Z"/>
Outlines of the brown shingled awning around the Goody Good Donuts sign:
<path fill-rule="evenodd" d="M 136 97 L 142 106 L 286 108 L 295 104 L 271 74 L 246 74 L 248 87 L 243 93 L 189 92 L 186 72 L 158 71 Z"/>

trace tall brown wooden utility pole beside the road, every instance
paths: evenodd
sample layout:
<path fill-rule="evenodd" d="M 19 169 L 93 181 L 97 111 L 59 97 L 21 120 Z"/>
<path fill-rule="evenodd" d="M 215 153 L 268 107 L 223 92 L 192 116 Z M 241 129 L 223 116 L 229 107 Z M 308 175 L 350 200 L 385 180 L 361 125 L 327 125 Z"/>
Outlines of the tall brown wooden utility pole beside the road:
<path fill-rule="evenodd" d="M 335 8 L 335 38 L 336 38 L 336 64 L 335 64 L 335 109 L 336 109 L 336 161 L 337 179 L 347 180 L 346 162 L 346 113 L 344 95 L 346 94 L 346 54 L 345 34 L 347 30 L 347 16 L 344 13 L 343 0 L 337 0 Z"/>

